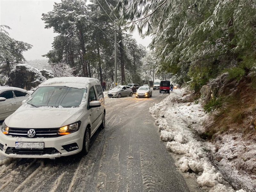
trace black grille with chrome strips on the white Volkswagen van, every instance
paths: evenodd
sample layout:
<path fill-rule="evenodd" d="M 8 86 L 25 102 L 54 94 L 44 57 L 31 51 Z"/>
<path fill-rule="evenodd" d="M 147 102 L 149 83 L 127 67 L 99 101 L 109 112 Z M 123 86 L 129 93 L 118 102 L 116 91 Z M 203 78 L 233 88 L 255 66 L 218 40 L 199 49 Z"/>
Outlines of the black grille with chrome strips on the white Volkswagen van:
<path fill-rule="evenodd" d="M 9 135 L 17 136 L 17 137 L 28 137 L 28 130 L 33 128 L 9 128 Z M 36 135 L 33 138 L 37 137 L 58 137 L 59 128 L 34 128 L 36 131 Z"/>

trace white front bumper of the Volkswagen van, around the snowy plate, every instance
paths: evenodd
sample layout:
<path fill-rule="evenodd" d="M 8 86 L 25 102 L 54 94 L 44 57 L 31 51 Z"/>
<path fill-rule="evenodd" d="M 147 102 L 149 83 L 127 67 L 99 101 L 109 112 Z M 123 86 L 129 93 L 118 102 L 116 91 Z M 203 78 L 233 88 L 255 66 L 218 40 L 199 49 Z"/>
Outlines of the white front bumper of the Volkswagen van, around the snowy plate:
<path fill-rule="evenodd" d="M 82 130 L 51 138 L 25 138 L 5 135 L 0 131 L 0 154 L 18 158 L 55 158 L 79 153 L 83 148 Z M 42 149 L 18 149 L 16 142 L 44 143 Z M 63 147 L 64 146 L 64 147 Z M 67 147 L 68 146 L 68 147 Z"/>

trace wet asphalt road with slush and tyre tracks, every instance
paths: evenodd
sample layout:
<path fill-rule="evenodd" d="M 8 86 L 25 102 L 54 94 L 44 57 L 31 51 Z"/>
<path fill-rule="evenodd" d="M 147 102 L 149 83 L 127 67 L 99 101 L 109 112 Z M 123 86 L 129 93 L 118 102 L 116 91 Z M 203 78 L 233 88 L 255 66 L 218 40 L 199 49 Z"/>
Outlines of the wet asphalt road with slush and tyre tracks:
<path fill-rule="evenodd" d="M 0 191 L 189 191 L 149 114 L 167 95 L 106 98 L 106 128 L 87 156 L 0 156 Z"/>

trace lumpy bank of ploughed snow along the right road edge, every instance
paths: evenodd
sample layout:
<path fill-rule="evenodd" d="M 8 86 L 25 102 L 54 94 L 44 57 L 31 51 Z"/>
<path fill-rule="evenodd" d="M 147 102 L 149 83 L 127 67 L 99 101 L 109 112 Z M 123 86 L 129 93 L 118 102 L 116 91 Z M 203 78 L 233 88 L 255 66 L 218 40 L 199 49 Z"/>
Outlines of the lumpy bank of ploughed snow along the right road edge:
<path fill-rule="evenodd" d="M 184 173 L 196 175 L 197 184 L 210 192 L 234 192 L 222 174 L 207 157 L 204 144 L 196 139 L 194 130 L 203 130 L 207 118 L 200 104 L 185 103 L 183 89 L 174 90 L 160 103 L 149 109 L 156 118 L 161 140 L 167 141 L 168 151 L 180 155 L 176 166 Z M 244 192 L 243 189 L 236 192 Z"/>

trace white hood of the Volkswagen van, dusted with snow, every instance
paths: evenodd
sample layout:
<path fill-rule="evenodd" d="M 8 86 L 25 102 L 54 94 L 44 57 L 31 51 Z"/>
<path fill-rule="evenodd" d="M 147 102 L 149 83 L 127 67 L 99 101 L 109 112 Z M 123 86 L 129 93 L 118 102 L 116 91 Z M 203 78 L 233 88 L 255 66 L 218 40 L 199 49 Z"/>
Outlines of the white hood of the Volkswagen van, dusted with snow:
<path fill-rule="evenodd" d="M 57 128 L 72 124 L 82 115 L 84 108 L 24 108 L 17 109 L 5 119 L 8 127 Z"/>

